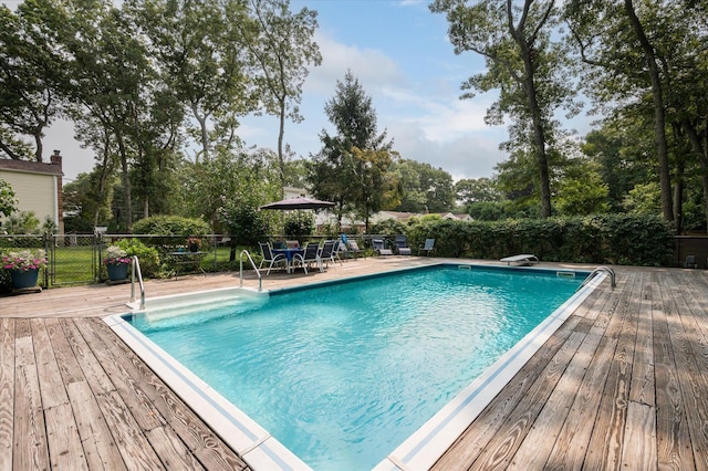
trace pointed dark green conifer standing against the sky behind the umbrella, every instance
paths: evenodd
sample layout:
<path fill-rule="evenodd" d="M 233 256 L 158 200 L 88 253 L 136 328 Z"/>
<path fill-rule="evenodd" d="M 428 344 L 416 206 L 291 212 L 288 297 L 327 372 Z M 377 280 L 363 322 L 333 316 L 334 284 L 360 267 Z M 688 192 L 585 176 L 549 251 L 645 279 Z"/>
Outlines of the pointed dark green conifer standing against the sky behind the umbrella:
<path fill-rule="evenodd" d="M 361 160 L 354 157 L 354 148 L 362 153 L 391 153 L 393 143 L 385 142 L 386 132 L 377 134 L 372 98 L 351 71 L 344 75 L 344 82 L 337 81 L 335 96 L 325 104 L 324 111 L 337 134 L 330 136 L 322 129 L 323 148 L 313 157 L 308 180 L 316 198 L 335 203 L 334 211 L 341 224 L 346 210 L 366 212 L 366 208 L 356 207 L 363 200 L 352 198 L 360 191 L 355 186 L 361 181 L 355 167 Z"/>

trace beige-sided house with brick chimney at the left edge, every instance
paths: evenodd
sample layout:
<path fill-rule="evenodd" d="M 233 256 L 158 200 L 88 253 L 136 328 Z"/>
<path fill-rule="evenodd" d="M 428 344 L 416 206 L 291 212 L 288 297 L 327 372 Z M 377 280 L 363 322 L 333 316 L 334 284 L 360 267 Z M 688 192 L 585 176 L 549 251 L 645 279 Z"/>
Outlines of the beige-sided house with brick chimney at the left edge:
<path fill-rule="evenodd" d="M 0 178 L 10 184 L 18 211 L 33 211 L 40 222 L 52 220 L 64 233 L 62 199 L 62 156 L 54 150 L 49 164 L 0 159 Z M 4 224 L 4 221 L 0 221 Z"/>

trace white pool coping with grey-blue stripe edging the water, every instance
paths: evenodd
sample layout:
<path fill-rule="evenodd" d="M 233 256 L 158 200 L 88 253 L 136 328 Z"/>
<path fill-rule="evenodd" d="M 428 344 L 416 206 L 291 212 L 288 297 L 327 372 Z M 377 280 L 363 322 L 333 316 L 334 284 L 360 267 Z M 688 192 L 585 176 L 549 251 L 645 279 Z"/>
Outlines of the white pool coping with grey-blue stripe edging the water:
<path fill-rule="evenodd" d="M 606 273 L 601 273 L 582 286 L 381 461 L 374 470 L 424 470 L 435 464 L 605 278 Z M 237 293 L 257 296 L 269 295 L 268 292 L 229 287 L 177 296 L 162 296 L 148 301 L 150 308 L 155 308 L 175 300 L 194 302 L 204 299 L 206 301 L 219 296 L 226 299 Z M 104 321 L 251 469 L 254 471 L 311 469 L 258 422 L 139 333 L 124 318 L 125 315 L 112 315 L 105 317 Z"/>

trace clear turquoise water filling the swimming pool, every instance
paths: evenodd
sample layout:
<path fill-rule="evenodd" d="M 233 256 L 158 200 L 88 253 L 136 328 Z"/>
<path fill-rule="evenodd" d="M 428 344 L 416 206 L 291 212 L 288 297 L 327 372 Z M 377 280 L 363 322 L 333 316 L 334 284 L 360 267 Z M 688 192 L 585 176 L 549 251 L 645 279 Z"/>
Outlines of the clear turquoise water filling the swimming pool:
<path fill-rule="evenodd" d="M 315 470 L 367 470 L 580 280 L 442 266 L 136 316 Z"/>

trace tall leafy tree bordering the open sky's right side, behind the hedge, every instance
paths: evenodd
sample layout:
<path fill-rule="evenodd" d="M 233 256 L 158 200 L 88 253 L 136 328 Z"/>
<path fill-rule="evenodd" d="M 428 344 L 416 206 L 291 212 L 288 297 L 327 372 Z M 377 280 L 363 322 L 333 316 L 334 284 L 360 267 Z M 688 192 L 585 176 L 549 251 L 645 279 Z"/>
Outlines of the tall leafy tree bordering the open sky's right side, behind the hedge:
<path fill-rule="evenodd" d="M 514 146 L 528 147 L 538 171 L 541 217 L 551 216 L 549 146 L 559 126 L 553 113 L 565 105 L 572 113 L 573 90 L 564 76 L 568 57 L 561 43 L 552 43 L 559 12 L 553 0 L 435 0 L 435 13 L 446 13 L 448 36 L 455 53 L 476 52 L 487 61 L 487 72 L 470 77 L 462 90 L 500 90 L 487 112 L 488 123 L 514 119 L 510 127 Z M 473 97 L 466 93 L 464 98 Z"/>

